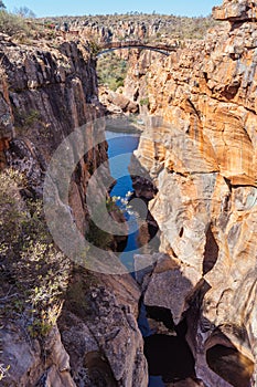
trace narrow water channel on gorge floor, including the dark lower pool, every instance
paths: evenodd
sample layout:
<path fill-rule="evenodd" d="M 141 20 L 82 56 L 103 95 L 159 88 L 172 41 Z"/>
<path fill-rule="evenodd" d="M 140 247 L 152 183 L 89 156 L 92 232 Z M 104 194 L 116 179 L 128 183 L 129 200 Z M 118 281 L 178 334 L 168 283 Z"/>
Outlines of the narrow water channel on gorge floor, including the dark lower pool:
<path fill-rule="evenodd" d="M 122 128 L 120 128 L 122 130 Z M 140 215 L 137 208 L 129 206 L 129 199 L 135 197 L 135 177 L 129 174 L 133 151 L 138 148 L 140 135 L 126 132 L 106 130 L 108 143 L 108 158 L 111 176 L 116 184 L 111 187 L 110 197 L 124 211 L 128 221 L 128 239 L 120 261 L 129 270 L 135 280 L 138 273 L 135 270 L 135 251 L 142 245 L 140 241 Z M 118 156 L 122 156 L 121 158 Z M 140 179 L 139 179 L 140 180 Z M 144 185 L 147 181 L 144 180 Z M 151 182 L 150 182 L 151 185 Z M 141 201 L 141 199 L 139 199 Z M 130 208 L 131 207 L 131 208 Z M 136 231 L 131 229 L 137 228 Z M 148 269 L 148 268 L 146 268 Z M 140 276 L 140 274 L 139 274 Z M 168 308 L 146 306 L 143 294 L 140 301 L 138 326 L 144 341 L 144 356 L 149 368 L 149 387 L 180 386 L 180 380 L 197 379 L 194 369 L 194 357 L 185 339 L 188 323 L 184 318 L 178 326 L 174 325 L 172 314 Z M 164 384 L 165 383 L 165 384 Z M 190 381 L 189 381 L 190 383 Z"/>

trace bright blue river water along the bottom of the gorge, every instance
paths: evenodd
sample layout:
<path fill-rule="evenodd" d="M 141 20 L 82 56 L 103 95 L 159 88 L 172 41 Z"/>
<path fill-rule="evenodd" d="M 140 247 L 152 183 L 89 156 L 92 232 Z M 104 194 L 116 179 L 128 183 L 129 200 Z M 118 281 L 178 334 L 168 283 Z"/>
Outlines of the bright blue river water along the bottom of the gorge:
<path fill-rule="evenodd" d="M 133 150 L 138 148 L 139 135 L 127 133 L 115 133 L 106 130 L 106 139 L 108 142 L 108 158 L 110 175 L 117 180 L 116 185 L 110 191 L 110 196 L 126 198 L 128 191 L 132 191 L 132 180 L 128 170 L 131 155 Z M 119 205 L 119 201 L 117 202 Z M 121 202 L 120 202 L 121 205 Z M 125 212 L 125 217 L 129 220 L 131 229 L 137 222 L 135 215 Z M 120 261 L 128 268 L 130 272 L 133 272 L 133 253 L 129 254 L 129 251 L 138 248 L 138 231 L 131 232 L 128 236 L 127 245 L 124 250 L 126 254 L 120 253 Z M 142 336 L 151 335 L 151 331 L 146 316 L 144 305 L 141 305 L 139 316 L 139 328 Z M 149 376 L 149 387 L 164 387 L 162 378 L 160 376 Z"/>

